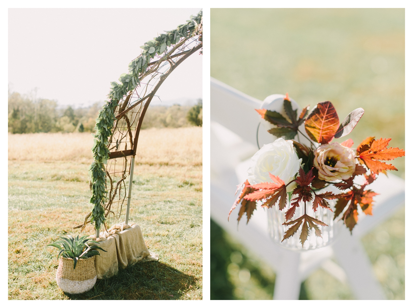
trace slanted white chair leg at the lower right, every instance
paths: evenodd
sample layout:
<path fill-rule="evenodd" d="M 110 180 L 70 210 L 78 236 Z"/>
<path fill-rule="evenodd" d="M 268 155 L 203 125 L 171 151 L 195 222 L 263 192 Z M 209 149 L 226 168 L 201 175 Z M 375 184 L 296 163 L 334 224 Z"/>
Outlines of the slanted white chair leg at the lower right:
<path fill-rule="evenodd" d="M 356 299 L 386 299 L 361 242 L 348 230 L 341 231 L 333 250 L 347 274 L 354 296 Z"/>

